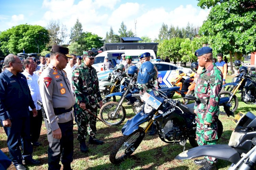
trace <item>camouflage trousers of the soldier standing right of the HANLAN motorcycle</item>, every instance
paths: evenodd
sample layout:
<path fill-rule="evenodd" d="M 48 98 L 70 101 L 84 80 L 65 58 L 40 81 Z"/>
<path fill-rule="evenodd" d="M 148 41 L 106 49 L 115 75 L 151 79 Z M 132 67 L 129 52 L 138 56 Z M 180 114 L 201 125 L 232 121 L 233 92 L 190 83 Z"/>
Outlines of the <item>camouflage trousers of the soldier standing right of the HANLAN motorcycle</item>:
<path fill-rule="evenodd" d="M 217 144 L 217 123 L 211 123 L 211 126 L 204 125 L 204 112 L 196 113 L 197 129 L 196 139 L 198 145 Z M 217 158 L 205 156 L 210 163 L 216 163 Z"/>

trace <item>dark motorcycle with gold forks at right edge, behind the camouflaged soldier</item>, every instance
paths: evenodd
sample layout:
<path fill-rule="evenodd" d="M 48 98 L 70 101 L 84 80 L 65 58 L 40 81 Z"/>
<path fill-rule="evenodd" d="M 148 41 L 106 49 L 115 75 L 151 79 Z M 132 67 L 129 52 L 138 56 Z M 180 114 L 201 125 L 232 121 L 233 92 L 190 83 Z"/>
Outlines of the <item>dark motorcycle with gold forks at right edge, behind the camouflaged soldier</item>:
<path fill-rule="evenodd" d="M 221 91 L 220 96 L 229 97 L 229 104 L 232 105 L 231 111 L 234 112 L 238 108 L 238 98 L 236 96 L 237 91 L 241 91 L 241 101 L 246 104 L 256 104 L 256 81 L 253 81 L 255 75 L 252 73 L 256 70 L 256 67 L 251 67 L 251 71 L 248 73 L 247 66 L 241 66 L 238 71 L 238 75 L 234 78 L 234 82 L 226 83 L 223 85 L 225 88 L 229 86 L 231 91 Z M 230 86 L 233 85 L 233 87 Z M 220 114 L 226 114 L 223 108 L 220 107 Z"/>

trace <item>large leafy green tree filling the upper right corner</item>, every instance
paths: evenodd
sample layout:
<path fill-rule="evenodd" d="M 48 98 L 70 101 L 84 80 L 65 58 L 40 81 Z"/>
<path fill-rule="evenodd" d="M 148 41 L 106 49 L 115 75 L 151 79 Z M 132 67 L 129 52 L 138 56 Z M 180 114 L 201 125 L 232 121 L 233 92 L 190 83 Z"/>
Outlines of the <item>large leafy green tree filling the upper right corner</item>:
<path fill-rule="evenodd" d="M 256 50 L 255 0 L 198 0 L 202 9 L 210 8 L 207 20 L 199 34 L 211 44 L 215 53 L 229 54 L 240 59 L 243 54 Z M 231 64 L 231 71 L 233 66 Z"/>

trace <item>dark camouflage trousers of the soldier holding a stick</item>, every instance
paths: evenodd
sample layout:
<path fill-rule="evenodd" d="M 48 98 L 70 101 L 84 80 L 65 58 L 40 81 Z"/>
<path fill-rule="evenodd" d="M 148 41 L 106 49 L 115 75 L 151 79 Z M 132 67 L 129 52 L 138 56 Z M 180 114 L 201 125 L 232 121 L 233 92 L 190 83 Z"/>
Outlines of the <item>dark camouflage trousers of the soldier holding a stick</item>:
<path fill-rule="evenodd" d="M 76 106 L 79 107 L 78 105 Z M 97 105 L 86 105 L 85 107 L 97 116 Z M 85 141 L 87 135 L 94 136 L 96 134 L 96 119 L 88 111 L 81 111 L 80 107 L 76 109 L 77 140 Z"/>

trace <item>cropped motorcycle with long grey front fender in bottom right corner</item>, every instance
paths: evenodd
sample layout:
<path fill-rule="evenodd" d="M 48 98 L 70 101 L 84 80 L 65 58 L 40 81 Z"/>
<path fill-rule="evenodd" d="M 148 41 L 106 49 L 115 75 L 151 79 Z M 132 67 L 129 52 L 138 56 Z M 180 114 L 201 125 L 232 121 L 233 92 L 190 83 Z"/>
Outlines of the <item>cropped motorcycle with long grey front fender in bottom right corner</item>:
<path fill-rule="evenodd" d="M 256 116 L 250 111 L 245 114 L 239 112 L 234 123 L 237 126 L 228 144 L 197 146 L 180 153 L 175 159 L 211 156 L 231 162 L 228 170 L 256 169 Z"/>

